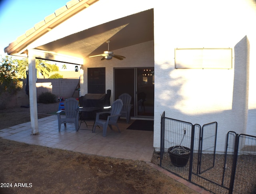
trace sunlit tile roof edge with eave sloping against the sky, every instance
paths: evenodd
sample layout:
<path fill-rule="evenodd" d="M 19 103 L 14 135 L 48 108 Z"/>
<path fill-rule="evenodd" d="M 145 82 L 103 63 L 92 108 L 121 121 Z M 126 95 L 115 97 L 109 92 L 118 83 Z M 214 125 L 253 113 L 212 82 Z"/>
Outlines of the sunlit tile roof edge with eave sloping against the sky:
<path fill-rule="evenodd" d="M 10 43 L 9 46 L 4 48 L 4 52 L 14 55 L 26 53 L 26 46 L 28 46 L 28 44 L 97 1 L 98 0 L 71 0 L 67 2 L 66 6 L 46 16 L 44 20 L 35 24 L 33 28 L 30 28 L 25 34 L 22 34 L 14 42 Z"/>

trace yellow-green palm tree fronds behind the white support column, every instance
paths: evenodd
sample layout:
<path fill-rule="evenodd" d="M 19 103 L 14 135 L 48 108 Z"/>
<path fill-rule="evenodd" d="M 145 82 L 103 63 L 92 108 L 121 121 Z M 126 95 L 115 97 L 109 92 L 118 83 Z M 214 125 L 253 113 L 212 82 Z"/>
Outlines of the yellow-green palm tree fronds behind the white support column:
<path fill-rule="evenodd" d="M 28 70 L 28 59 L 16 60 L 18 63 L 17 69 L 21 78 L 26 78 L 26 70 Z M 51 64 L 46 60 L 36 59 L 37 73 L 41 73 L 44 78 L 49 77 L 49 73 L 52 71 Z"/>

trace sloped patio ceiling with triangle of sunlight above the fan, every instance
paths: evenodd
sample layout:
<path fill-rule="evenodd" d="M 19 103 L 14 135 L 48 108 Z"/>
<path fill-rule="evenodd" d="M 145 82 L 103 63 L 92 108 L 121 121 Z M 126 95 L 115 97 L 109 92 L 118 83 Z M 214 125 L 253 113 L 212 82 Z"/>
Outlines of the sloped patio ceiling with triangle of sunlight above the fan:
<path fill-rule="evenodd" d="M 107 40 L 111 40 L 110 50 L 154 40 L 153 9 L 77 32 L 37 49 L 86 58 L 107 50 Z"/>

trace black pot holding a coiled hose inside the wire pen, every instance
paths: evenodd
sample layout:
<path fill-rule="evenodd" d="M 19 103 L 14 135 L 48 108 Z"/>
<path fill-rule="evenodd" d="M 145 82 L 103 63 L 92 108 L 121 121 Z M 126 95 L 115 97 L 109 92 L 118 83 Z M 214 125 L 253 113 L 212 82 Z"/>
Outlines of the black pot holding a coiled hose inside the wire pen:
<path fill-rule="evenodd" d="M 184 146 L 172 146 L 168 148 L 168 154 L 174 166 L 186 166 L 190 158 L 190 148 Z"/>

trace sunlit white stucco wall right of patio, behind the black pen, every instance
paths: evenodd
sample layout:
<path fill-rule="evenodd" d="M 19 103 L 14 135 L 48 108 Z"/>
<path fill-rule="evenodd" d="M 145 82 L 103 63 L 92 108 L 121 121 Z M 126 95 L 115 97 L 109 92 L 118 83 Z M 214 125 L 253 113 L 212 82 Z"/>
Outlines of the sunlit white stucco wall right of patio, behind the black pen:
<path fill-rule="evenodd" d="M 230 130 L 255 135 L 255 14 L 255 3 L 242 0 L 162 1 L 154 7 L 154 147 L 160 147 L 164 110 L 193 124 L 218 122 L 219 152 Z M 175 69 L 174 48 L 232 48 L 233 68 Z"/>

